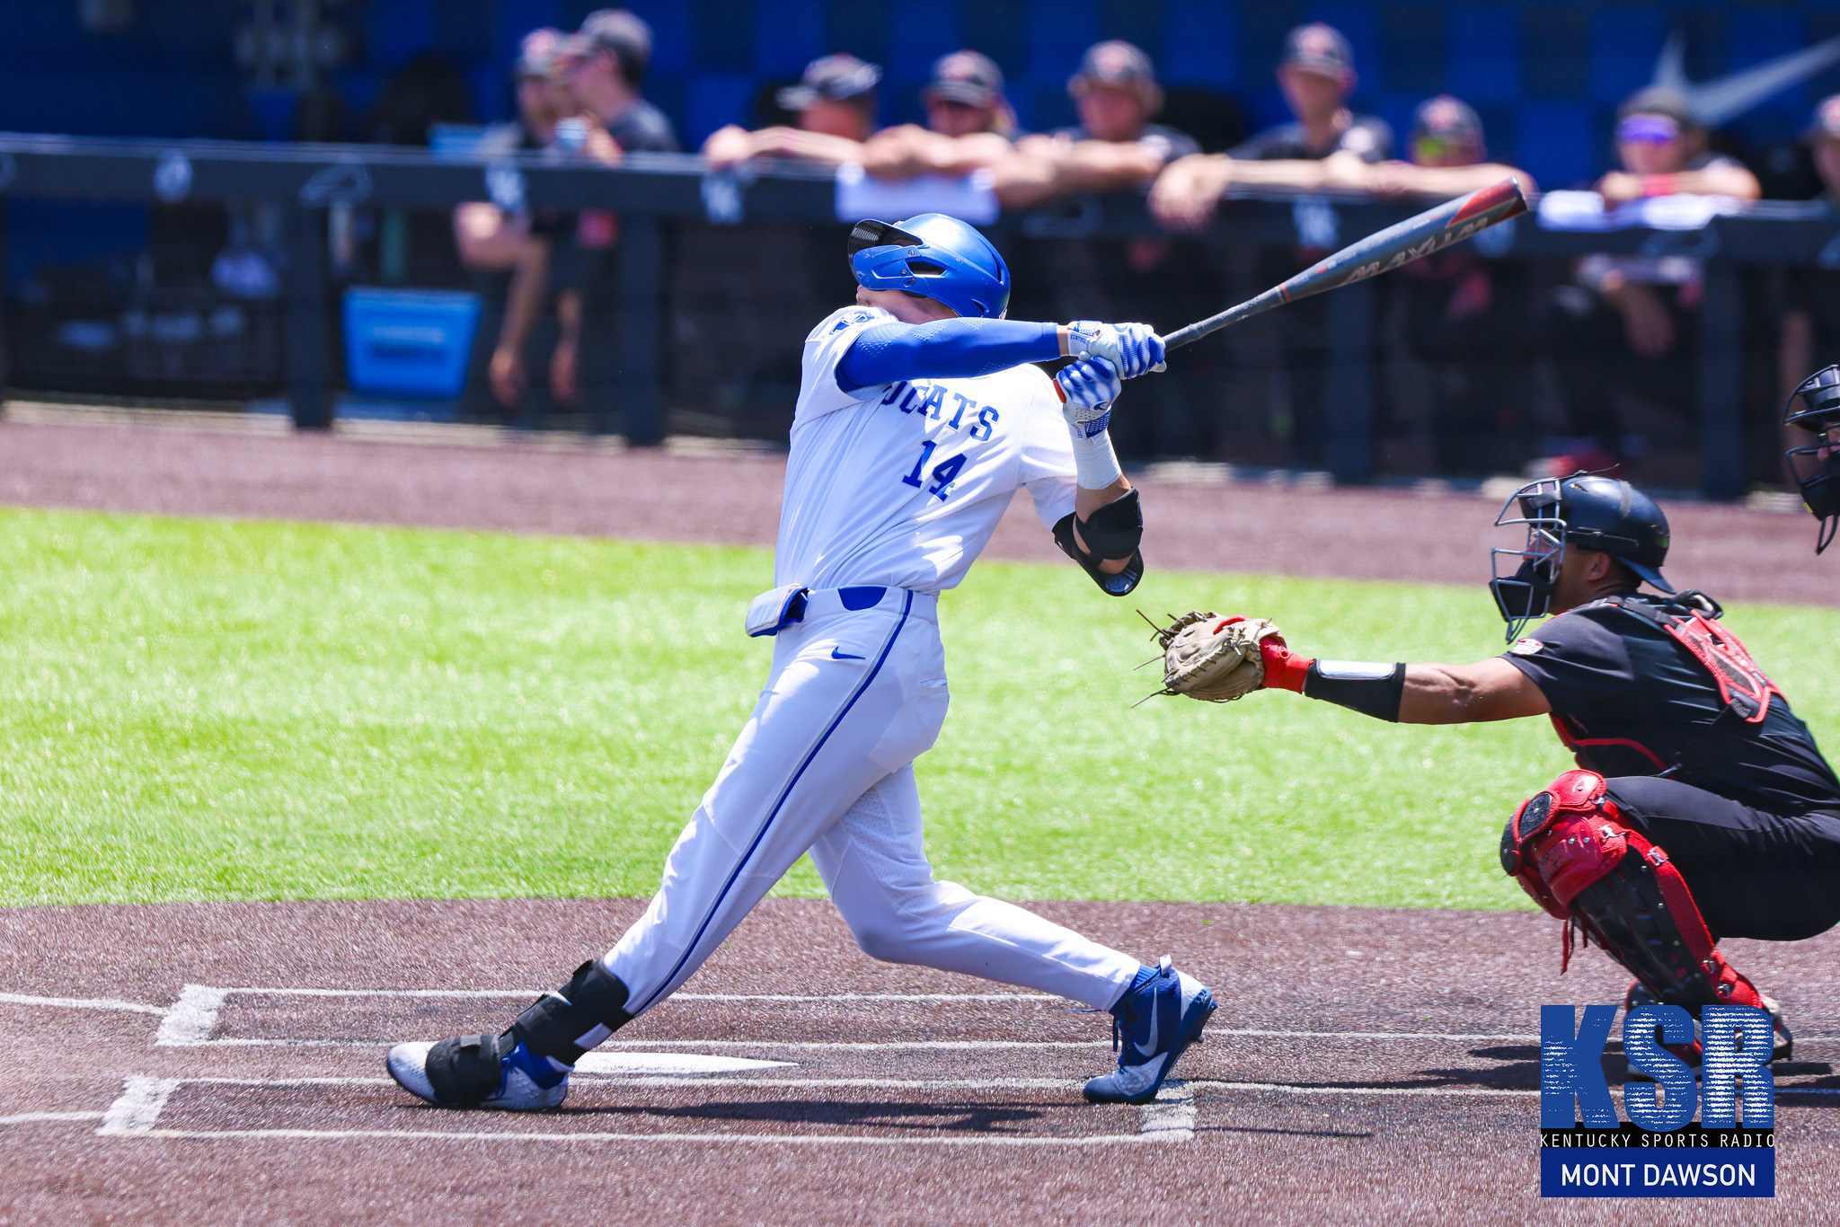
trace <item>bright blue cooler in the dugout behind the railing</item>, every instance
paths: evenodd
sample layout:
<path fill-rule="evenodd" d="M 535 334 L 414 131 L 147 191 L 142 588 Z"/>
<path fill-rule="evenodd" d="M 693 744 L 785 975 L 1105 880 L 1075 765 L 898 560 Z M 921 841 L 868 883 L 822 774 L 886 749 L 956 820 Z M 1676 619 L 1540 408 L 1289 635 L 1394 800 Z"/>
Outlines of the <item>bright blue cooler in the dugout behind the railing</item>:
<path fill-rule="evenodd" d="M 451 401 L 466 390 L 478 294 L 348 289 L 344 329 L 353 392 Z"/>

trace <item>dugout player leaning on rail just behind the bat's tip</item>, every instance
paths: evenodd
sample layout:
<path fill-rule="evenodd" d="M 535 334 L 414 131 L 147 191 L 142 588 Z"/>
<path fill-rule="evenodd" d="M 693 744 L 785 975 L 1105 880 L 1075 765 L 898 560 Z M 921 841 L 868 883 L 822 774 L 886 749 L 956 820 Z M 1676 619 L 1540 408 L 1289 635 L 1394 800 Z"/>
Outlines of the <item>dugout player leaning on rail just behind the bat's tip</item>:
<path fill-rule="evenodd" d="M 1448 94 L 1419 103 L 1408 147 L 1411 162 L 1362 164 L 1369 189 L 1454 197 L 1514 175 L 1533 191 L 1525 171 L 1485 162 L 1481 118 Z M 1533 418 L 1527 265 L 1490 261 L 1476 243 L 1457 243 L 1406 265 L 1386 291 L 1395 425 L 1422 440 L 1437 473 L 1514 469 Z"/>

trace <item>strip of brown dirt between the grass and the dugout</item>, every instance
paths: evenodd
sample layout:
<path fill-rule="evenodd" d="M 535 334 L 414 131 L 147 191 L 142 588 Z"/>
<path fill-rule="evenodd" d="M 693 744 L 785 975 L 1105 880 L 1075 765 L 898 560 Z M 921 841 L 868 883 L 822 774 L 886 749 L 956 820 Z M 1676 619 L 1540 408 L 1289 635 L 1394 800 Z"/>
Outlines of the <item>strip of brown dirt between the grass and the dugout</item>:
<path fill-rule="evenodd" d="M 278 421 L 147 425 L 13 410 L 0 419 L 0 504 L 431 524 L 637 541 L 771 545 L 784 458 L 508 441 L 480 429 L 291 436 Z M 1481 583 L 1496 504 L 1474 495 L 1196 482 L 1141 475 L 1144 557 L 1176 570 Z M 1669 504 L 1669 574 L 1720 600 L 1840 605 L 1807 515 Z M 1027 499 L 990 557 L 1058 559 Z"/>

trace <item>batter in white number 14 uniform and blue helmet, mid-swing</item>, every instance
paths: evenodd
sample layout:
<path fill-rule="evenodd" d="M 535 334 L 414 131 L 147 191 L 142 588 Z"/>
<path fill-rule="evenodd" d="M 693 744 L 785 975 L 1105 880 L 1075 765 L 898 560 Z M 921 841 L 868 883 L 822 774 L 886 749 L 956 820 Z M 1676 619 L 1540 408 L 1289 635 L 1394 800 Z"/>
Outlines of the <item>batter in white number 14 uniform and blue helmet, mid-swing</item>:
<path fill-rule="evenodd" d="M 937 881 L 913 762 L 946 719 L 938 594 L 1018 489 L 1110 594 L 1143 574 L 1137 491 L 1106 425 L 1121 377 L 1161 370 L 1141 324 L 1005 320 L 1010 274 L 972 226 L 859 223 L 854 307 L 804 342 L 776 587 L 747 611 L 773 636 L 760 701 L 664 865 L 644 916 L 504 1034 L 401 1043 L 390 1074 L 443 1107 L 554 1107 L 583 1052 L 675 992 L 811 854 L 868 955 L 1110 1010 L 1104 1102 L 1156 1096 L 1213 995 L 1019 907 Z M 1049 379 L 1032 362 L 1075 357 Z"/>

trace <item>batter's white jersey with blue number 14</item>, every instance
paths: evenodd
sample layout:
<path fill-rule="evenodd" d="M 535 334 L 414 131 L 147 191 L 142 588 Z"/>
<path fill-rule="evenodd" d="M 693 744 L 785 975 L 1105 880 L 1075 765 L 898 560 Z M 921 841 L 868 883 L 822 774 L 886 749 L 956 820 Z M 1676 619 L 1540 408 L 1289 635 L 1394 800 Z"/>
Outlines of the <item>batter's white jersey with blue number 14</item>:
<path fill-rule="evenodd" d="M 1073 445 L 1040 368 L 837 384 L 863 329 L 889 322 L 845 307 L 806 337 L 775 585 L 938 592 L 964 579 L 1019 487 L 1049 528 L 1073 511 Z"/>

